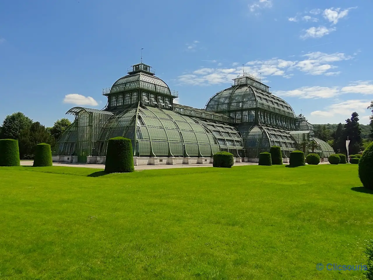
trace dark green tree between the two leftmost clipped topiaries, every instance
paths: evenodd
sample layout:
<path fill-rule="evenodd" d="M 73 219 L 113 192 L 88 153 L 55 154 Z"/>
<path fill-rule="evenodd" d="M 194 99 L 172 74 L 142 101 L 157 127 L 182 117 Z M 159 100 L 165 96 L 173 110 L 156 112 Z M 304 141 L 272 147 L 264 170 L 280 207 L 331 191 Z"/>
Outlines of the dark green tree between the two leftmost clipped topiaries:
<path fill-rule="evenodd" d="M 30 128 L 21 131 L 19 136 L 19 156 L 21 159 L 31 159 L 34 156 L 35 146 L 40 143 L 56 143 L 53 136 L 40 122 L 34 122 Z"/>

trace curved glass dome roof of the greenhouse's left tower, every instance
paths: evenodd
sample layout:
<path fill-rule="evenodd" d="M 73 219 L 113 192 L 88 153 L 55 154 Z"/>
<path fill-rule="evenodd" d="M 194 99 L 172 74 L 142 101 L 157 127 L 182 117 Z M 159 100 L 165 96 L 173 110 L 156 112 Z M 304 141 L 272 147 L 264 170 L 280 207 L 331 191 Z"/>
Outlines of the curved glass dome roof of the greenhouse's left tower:
<path fill-rule="evenodd" d="M 137 72 L 126 75 L 117 80 L 110 89 L 110 93 L 143 88 L 157 93 L 171 94 L 171 90 L 160 78 L 147 72 Z"/>

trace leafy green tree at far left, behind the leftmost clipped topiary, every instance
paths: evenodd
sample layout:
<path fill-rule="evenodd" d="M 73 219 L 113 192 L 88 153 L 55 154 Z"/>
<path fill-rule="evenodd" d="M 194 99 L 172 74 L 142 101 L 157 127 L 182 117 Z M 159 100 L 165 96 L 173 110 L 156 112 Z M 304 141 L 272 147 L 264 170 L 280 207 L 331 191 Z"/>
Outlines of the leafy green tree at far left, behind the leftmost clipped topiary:
<path fill-rule="evenodd" d="M 1 127 L 0 139 L 18 139 L 21 131 L 29 128 L 32 119 L 21 112 L 7 115 Z"/>

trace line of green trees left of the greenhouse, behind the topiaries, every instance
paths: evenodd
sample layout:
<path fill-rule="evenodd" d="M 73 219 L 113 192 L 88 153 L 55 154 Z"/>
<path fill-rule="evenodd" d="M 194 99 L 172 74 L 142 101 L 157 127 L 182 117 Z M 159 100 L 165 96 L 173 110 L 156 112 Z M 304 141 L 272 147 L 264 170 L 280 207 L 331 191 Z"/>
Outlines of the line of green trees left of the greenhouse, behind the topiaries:
<path fill-rule="evenodd" d="M 35 146 L 47 143 L 53 148 L 63 132 L 71 125 L 67 118 L 58 119 L 53 127 L 34 122 L 21 112 L 7 115 L 0 126 L 0 139 L 15 139 L 19 144 L 19 157 L 33 159 Z"/>

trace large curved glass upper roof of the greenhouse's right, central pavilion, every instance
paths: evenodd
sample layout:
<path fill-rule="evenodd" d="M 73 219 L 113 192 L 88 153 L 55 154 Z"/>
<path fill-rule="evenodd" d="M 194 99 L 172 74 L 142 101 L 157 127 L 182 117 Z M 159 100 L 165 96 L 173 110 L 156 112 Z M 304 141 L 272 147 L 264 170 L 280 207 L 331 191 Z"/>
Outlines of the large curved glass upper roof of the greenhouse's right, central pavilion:
<path fill-rule="evenodd" d="M 291 106 L 280 97 L 251 85 L 232 86 L 219 91 L 206 103 L 206 110 L 212 112 L 239 109 L 262 108 L 267 111 L 295 117 Z"/>

